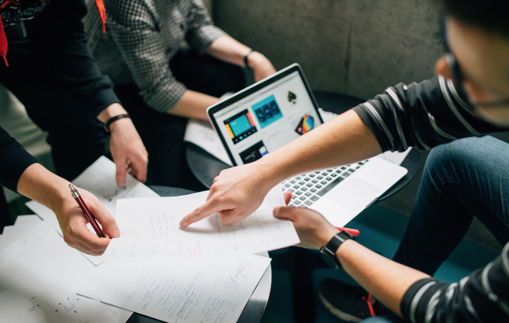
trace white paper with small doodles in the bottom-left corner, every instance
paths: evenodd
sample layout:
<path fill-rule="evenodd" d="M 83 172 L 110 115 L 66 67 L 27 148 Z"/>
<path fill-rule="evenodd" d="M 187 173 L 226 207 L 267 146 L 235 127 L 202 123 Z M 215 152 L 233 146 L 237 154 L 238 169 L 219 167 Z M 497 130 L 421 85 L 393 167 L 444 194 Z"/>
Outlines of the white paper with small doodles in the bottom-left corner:
<path fill-rule="evenodd" d="M 79 277 L 95 269 L 40 221 L 0 252 L 0 313 L 20 322 L 124 323 L 132 312 L 76 296 L 83 283 Z"/>

